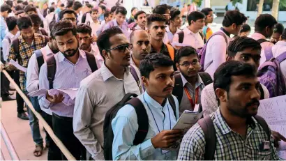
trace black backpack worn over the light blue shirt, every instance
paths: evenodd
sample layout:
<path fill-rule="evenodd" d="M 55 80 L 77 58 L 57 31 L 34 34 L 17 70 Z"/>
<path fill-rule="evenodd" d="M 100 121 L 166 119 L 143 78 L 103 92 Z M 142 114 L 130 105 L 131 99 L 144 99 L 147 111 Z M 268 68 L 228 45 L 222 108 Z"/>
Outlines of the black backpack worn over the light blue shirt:
<path fill-rule="evenodd" d="M 133 98 L 132 98 L 133 97 Z M 118 102 L 114 107 L 109 109 L 105 114 L 105 120 L 103 125 L 103 135 L 104 135 L 104 158 L 105 160 L 112 160 L 112 144 L 113 144 L 113 130 L 112 130 L 112 119 L 115 118 L 119 109 L 124 105 L 132 105 L 137 114 L 138 130 L 136 132 L 135 138 L 133 140 L 133 145 L 141 144 L 149 130 L 149 120 L 148 114 L 144 105 L 137 95 L 134 93 L 127 93 L 120 102 Z M 170 105 L 173 109 L 174 115 L 176 116 L 176 105 L 172 95 L 168 98 Z"/>

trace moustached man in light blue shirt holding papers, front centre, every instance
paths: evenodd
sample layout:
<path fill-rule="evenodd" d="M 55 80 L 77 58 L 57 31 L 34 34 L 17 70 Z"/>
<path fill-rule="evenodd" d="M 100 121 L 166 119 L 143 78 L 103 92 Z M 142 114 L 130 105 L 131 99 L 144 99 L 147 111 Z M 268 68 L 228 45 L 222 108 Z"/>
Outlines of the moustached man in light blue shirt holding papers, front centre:
<path fill-rule="evenodd" d="M 146 91 L 137 98 L 146 109 L 149 130 L 144 141 L 135 146 L 133 140 L 138 129 L 135 109 L 131 105 L 119 109 L 112 120 L 113 160 L 176 160 L 176 151 L 164 150 L 174 145 L 183 135 L 181 130 L 172 130 L 179 116 L 178 101 L 172 95 L 172 65 L 173 61 L 160 53 L 149 54 L 140 62 Z M 171 99 L 175 102 L 175 112 L 170 103 Z"/>

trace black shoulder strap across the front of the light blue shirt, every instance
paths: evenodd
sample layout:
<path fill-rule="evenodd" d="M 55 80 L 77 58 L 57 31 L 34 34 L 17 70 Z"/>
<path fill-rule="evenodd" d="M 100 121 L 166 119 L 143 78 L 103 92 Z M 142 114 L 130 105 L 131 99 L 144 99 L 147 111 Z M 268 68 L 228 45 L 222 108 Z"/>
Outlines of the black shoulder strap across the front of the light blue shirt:
<path fill-rule="evenodd" d="M 133 145 L 138 145 L 144 141 L 149 130 L 148 114 L 139 98 L 132 98 L 126 104 L 132 105 L 137 114 L 138 130 L 135 134 Z"/>

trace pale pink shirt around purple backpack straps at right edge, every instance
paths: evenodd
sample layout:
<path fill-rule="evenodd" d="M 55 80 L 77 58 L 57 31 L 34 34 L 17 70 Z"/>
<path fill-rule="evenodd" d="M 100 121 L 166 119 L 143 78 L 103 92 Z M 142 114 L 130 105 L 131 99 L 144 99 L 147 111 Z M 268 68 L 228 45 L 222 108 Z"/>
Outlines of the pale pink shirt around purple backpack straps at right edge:
<path fill-rule="evenodd" d="M 283 52 L 286 52 L 286 41 L 278 41 L 276 43 L 276 45 L 274 45 L 272 47 L 272 53 L 274 58 L 277 58 L 278 56 L 280 56 L 280 54 L 283 54 Z M 262 65 L 262 63 L 264 63 L 266 61 L 266 57 L 265 57 L 265 52 L 264 50 L 261 51 L 261 59 L 260 59 L 260 66 Z M 282 72 L 282 75 L 284 77 L 284 81 L 286 84 L 286 60 L 282 61 L 280 63 L 280 70 Z"/>

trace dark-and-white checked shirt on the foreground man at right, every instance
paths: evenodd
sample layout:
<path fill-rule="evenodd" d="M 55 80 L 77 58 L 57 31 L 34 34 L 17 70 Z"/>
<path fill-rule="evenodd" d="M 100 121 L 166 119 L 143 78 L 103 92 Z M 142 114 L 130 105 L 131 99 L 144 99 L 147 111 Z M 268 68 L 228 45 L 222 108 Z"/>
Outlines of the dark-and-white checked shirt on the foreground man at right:
<path fill-rule="evenodd" d="M 255 118 L 250 118 L 246 139 L 234 132 L 220 114 L 220 109 L 211 116 L 216 129 L 216 152 L 214 160 L 278 160 L 273 137 L 269 150 L 261 150 L 262 141 L 268 140 L 266 132 Z M 178 160 L 204 160 L 206 141 L 204 132 L 197 123 L 188 130 L 181 142 Z"/>

